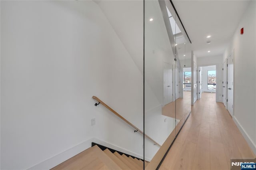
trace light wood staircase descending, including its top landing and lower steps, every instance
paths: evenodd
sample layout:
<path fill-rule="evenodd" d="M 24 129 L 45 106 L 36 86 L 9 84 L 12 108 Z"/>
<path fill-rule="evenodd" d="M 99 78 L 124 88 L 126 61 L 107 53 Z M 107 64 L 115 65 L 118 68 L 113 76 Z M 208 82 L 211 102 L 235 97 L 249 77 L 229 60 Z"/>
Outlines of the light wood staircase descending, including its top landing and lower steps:
<path fill-rule="evenodd" d="M 145 161 L 145 168 L 149 162 Z M 143 170 L 143 161 L 94 145 L 51 170 Z"/>

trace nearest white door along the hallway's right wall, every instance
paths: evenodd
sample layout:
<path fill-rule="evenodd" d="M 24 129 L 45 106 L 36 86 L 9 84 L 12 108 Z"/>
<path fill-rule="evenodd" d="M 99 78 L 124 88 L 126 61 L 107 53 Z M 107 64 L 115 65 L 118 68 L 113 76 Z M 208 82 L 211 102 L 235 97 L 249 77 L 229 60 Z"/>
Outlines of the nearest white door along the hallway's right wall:
<path fill-rule="evenodd" d="M 228 57 L 228 82 L 227 82 L 227 93 L 228 93 L 228 97 L 227 97 L 227 105 L 228 105 L 228 111 L 230 113 L 230 115 L 233 117 L 233 90 L 234 90 L 234 82 L 233 82 L 233 77 L 234 77 L 234 57 L 233 55 L 230 55 L 230 57 Z"/>

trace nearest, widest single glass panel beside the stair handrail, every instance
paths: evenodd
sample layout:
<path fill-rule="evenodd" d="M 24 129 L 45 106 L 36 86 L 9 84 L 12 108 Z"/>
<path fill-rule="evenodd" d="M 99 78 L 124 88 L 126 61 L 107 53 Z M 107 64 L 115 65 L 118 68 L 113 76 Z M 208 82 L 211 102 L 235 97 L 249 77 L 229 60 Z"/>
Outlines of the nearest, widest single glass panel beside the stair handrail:
<path fill-rule="evenodd" d="M 167 150 L 170 145 L 164 146 L 164 142 L 167 139 L 172 142 L 176 135 L 174 60 L 176 23 L 170 22 L 170 18 L 175 18 L 175 12 L 168 11 L 164 1 L 154 0 L 144 3 L 145 134 Z M 145 159 L 152 160 L 159 148 L 145 138 Z"/>

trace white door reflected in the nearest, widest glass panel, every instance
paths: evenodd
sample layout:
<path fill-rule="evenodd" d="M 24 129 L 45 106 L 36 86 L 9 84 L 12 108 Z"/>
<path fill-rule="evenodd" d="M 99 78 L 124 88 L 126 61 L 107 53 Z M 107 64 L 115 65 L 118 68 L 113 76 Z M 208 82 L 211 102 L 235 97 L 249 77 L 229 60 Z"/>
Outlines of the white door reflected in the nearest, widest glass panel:
<path fill-rule="evenodd" d="M 164 105 L 172 102 L 172 65 L 164 63 Z"/>

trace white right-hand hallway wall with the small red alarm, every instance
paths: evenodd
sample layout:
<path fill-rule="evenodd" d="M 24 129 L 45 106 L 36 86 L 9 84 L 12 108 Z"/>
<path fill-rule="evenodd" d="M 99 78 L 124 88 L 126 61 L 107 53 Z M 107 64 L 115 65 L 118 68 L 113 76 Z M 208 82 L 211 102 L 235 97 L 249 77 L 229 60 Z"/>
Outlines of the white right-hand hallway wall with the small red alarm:
<path fill-rule="evenodd" d="M 231 53 L 234 53 L 233 119 L 256 154 L 256 1 L 251 1 L 246 9 L 223 61 Z"/>

